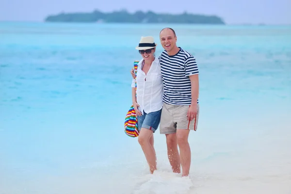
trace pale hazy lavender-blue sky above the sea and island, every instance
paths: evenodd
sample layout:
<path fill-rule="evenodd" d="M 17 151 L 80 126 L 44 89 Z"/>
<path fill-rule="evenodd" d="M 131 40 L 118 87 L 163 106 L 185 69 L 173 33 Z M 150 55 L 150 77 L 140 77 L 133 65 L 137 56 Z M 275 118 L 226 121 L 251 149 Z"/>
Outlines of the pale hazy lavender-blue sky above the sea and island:
<path fill-rule="evenodd" d="M 121 9 L 216 15 L 226 24 L 291 24 L 291 0 L 0 0 L 0 21 L 44 21 L 61 12 Z"/>

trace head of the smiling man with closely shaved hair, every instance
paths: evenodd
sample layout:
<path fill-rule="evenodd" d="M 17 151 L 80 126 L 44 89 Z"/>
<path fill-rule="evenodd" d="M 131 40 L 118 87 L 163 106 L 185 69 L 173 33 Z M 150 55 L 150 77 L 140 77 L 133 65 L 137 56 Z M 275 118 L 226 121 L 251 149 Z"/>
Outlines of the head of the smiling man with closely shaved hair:
<path fill-rule="evenodd" d="M 160 41 L 162 47 L 167 51 L 170 52 L 172 49 L 176 47 L 177 37 L 170 29 L 164 29 L 160 33 Z"/>

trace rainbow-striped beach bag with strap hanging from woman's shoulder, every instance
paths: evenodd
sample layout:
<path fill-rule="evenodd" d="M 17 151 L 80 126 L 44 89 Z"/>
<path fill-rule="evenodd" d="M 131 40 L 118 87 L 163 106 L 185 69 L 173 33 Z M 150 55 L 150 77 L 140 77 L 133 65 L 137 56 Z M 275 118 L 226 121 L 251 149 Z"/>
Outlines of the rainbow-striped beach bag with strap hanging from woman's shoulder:
<path fill-rule="evenodd" d="M 139 61 L 134 61 L 133 63 L 135 78 L 136 78 L 138 63 Z M 135 81 L 135 90 L 136 90 L 136 81 Z M 130 106 L 129 111 L 127 112 L 125 116 L 124 131 L 130 137 L 137 137 L 139 135 L 137 115 L 135 113 L 133 105 Z"/>

